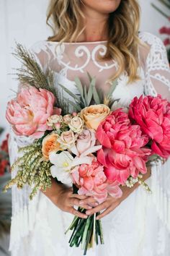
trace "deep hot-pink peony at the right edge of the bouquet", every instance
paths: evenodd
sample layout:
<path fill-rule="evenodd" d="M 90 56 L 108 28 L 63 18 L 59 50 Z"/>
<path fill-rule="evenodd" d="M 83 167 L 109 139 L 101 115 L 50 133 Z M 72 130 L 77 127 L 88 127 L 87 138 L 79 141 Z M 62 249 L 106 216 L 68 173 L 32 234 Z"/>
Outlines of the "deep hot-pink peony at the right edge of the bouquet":
<path fill-rule="evenodd" d="M 143 133 L 152 140 L 153 153 L 163 158 L 170 155 L 170 103 L 161 98 L 140 96 L 130 104 L 130 119 L 140 125 Z"/>

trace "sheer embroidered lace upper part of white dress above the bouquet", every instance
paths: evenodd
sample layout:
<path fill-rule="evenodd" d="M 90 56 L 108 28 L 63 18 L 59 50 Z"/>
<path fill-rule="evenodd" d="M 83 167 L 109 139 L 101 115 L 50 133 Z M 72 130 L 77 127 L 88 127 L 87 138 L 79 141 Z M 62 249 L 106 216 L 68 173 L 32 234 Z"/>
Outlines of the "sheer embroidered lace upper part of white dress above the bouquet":
<path fill-rule="evenodd" d="M 128 75 L 123 73 L 118 80 L 118 87 L 114 93 L 115 98 L 125 98 L 129 94 L 133 97 L 136 89 L 140 88 L 146 94 L 156 95 L 161 93 L 163 97 L 169 97 L 170 74 L 169 64 L 166 58 L 166 48 L 159 38 L 149 33 L 139 33 L 141 42 L 138 56 L 140 65 L 138 74 L 141 80 L 133 84 L 127 85 Z M 32 46 L 37 59 L 40 61 L 42 69 L 52 69 L 56 74 L 58 82 L 71 86 L 76 90 L 74 85 L 74 77 L 78 76 L 84 85 L 89 84 L 88 71 L 92 76 L 97 78 L 97 86 L 103 91 L 109 89 L 107 80 L 117 70 L 117 62 L 112 59 L 110 61 L 99 61 L 97 55 L 103 56 L 107 48 L 107 41 L 84 42 L 84 43 L 62 43 L 40 41 Z M 123 89 L 120 90 L 120 87 Z M 132 86 L 134 91 L 132 90 Z M 120 97 L 121 93 L 121 97 Z M 128 95 L 127 95 L 128 93 Z M 130 98 L 131 98 L 130 97 Z M 125 100 L 127 101 L 127 100 Z"/>

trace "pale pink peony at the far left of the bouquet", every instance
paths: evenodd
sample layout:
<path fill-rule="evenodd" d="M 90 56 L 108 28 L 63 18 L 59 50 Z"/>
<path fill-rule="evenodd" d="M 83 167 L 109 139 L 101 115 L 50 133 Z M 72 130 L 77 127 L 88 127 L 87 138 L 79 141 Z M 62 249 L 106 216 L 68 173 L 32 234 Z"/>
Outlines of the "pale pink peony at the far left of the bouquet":
<path fill-rule="evenodd" d="M 49 129 L 46 121 L 53 115 L 55 96 L 45 89 L 22 88 L 16 99 L 9 101 L 6 119 L 17 135 L 42 137 Z"/>

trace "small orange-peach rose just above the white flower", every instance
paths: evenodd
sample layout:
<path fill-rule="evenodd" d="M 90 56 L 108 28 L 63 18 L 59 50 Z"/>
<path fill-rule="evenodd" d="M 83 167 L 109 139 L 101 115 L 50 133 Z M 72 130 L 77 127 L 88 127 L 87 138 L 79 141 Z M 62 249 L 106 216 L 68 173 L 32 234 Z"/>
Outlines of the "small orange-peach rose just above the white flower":
<path fill-rule="evenodd" d="M 45 157 L 45 160 L 49 160 L 50 152 L 62 150 L 61 144 L 58 142 L 58 137 L 56 133 L 52 132 L 42 140 L 42 155 Z"/>

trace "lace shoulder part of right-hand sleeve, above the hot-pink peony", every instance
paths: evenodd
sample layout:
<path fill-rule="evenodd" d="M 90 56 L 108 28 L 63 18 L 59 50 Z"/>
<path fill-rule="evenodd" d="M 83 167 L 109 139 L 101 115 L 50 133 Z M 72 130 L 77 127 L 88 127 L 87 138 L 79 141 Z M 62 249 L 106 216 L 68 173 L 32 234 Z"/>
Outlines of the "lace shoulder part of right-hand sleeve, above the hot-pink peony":
<path fill-rule="evenodd" d="M 170 69 L 166 47 L 154 35 L 146 38 L 150 51 L 146 59 L 146 95 L 161 94 L 170 101 Z"/>

